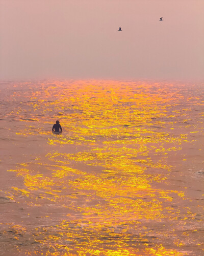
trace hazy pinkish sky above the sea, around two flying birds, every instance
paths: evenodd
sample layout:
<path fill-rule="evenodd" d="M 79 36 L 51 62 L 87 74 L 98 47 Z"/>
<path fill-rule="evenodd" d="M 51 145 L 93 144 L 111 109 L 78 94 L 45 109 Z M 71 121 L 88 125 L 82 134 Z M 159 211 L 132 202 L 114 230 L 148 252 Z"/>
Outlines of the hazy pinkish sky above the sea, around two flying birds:
<path fill-rule="evenodd" d="M 1 80 L 204 78 L 204 0 L 0 0 L 0 32 Z"/>

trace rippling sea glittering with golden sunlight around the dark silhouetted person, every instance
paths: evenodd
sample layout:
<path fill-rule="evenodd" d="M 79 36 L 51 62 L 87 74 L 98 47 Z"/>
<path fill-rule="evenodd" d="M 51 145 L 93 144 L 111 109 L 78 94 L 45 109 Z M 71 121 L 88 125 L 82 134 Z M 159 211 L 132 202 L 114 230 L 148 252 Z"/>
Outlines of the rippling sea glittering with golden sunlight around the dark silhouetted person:
<path fill-rule="evenodd" d="M 203 106 L 203 84 L 2 82 L 0 254 L 203 255 Z"/>

